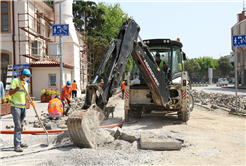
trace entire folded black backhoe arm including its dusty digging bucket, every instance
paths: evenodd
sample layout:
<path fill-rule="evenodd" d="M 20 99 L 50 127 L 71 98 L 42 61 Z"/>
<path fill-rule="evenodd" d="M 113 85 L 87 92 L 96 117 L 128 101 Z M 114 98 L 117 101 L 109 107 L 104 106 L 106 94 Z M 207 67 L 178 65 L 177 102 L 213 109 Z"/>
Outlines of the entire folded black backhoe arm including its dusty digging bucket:
<path fill-rule="evenodd" d="M 68 118 L 69 133 L 75 145 L 87 148 L 96 147 L 95 130 L 104 119 L 104 110 L 109 98 L 120 85 L 130 55 L 151 91 L 154 104 L 157 107 L 169 106 L 170 97 L 166 87 L 166 73 L 157 66 L 148 47 L 143 43 L 142 47 L 138 45 L 138 38 L 142 42 L 139 31 L 139 25 L 134 20 L 128 19 L 121 25 L 117 39 L 110 42 L 93 83 L 87 85 L 83 106 L 85 111 L 75 112 Z M 111 62 L 103 88 L 101 88 L 96 84 L 96 80 L 104 72 L 111 55 Z"/>

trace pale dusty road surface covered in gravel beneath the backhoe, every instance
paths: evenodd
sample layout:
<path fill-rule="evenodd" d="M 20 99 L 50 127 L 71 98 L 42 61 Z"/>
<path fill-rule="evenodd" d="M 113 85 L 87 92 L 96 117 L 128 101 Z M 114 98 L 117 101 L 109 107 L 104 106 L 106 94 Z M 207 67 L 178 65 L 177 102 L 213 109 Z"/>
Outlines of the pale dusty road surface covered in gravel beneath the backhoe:
<path fill-rule="evenodd" d="M 114 119 L 124 115 L 123 100 L 113 98 L 110 104 L 117 107 Z M 51 145 L 42 146 L 46 135 L 22 135 L 29 144 L 23 153 L 13 151 L 13 135 L 2 134 L 1 165 L 245 165 L 245 118 L 228 112 L 195 106 L 187 123 L 175 124 L 176 115 L 153 112 L 143 115 L 134 124 L 124 124 L 123 129 L 169 130 L 184 139 L 184 147 L 174 151 L 141 150 L 139 141 L 130 143 L 115 140 L 103 150 L 80 149 L 72 145 L 69 137 L 50 136 Z M 61 135 L 61 134 L 60 134 Z M 64 135 L 64 133 L 63 133 Z M 136 146 L 137 145 L 137 146 Z M 133 146 L 135 146 L 133 148 Z"/>

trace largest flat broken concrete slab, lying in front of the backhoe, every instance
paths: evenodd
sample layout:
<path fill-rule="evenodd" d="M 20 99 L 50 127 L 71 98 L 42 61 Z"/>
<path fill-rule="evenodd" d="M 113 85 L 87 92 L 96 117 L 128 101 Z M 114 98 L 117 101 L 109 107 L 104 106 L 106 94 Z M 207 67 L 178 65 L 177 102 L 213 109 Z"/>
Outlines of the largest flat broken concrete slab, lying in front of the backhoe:
<path fill-rule="evenodd" d="M 151 131 L 141 132 L 140 145 L 146 150 L 180 150 L 182 147 L 180 141 Z"/>

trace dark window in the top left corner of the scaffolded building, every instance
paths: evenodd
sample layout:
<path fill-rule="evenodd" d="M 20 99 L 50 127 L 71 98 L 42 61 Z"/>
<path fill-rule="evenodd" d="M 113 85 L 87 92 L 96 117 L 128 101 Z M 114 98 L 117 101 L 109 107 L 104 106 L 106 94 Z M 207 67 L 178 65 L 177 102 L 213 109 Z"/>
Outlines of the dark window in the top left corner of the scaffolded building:
<path fill-rule="evenodd" d="M 0 31 L 9 30 L 9 4 L 6 1 L 0 1 Z"/>

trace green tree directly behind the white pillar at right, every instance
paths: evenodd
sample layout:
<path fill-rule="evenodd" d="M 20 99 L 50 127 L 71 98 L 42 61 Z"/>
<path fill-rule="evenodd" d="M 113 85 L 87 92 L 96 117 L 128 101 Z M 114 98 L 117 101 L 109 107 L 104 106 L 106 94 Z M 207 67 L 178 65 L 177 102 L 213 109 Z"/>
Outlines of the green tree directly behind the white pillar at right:
<path fill-rule="evenodd" d="M 209 56 L 199 57 L 195 61 L 201 67 L 198 71 L 201 79 L 203 79 L 203 77 L 208 73 L 208 68 L 212 68 L 215 71 L 219 66 L 218 61 Z"/>

